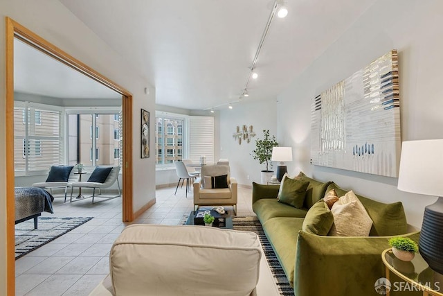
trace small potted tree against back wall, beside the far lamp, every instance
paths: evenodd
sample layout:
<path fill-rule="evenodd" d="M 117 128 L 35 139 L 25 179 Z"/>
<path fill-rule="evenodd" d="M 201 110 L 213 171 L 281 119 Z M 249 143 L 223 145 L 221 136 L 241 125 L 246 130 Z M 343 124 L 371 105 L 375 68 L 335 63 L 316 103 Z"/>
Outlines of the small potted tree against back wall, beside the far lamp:
<path fill-rule="evenodd" d="M 272 148 L 278 146 L 278 142 L 275 140 L 275 136 L 269 135 L 269 130 L 263 130 L 263 134 L 263 139 L 255 140 L 255 149 L 252 150 L 251 155 L 260 164 L 266 163 L 266 170 L 262 171 L 262 184 L 267 184 L 273 175 L 273 171 L 269 171 L 269 166 L 272 168 Z"/>

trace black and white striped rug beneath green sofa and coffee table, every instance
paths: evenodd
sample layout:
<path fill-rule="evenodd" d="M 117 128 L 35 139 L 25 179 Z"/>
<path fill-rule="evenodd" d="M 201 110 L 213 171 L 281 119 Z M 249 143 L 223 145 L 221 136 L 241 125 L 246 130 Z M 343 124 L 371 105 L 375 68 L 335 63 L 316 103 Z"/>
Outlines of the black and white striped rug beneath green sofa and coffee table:
<path fill-rule="evenodd" d="M 181 224 L 185 224 L 186 220 L 188 220 L 188 216 L 182 218 Z M 255 232 L 258 235 L 260 242 L 262 243 L 264 255 L 266 256 L 266 261 L 268 261 L 269 267 L 271 268 L 280 295 L 293 296 L 293 288 L 289 284 L 277 256 L 275 256 L 271 243 L 269 243 L 268 238 L 266 238 L 266 235 L 264 234 L 260 220 L 258 220 L 256 216 L 236 216 L 233 217 L 233 229 Z"/>

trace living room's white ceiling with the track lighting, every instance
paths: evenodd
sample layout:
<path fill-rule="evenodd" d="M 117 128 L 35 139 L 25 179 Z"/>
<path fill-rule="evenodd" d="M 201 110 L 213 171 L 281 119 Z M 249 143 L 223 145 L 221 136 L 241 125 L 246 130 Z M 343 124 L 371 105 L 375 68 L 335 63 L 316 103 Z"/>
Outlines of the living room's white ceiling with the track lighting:
<path fill-rule="evenodd" d="M 288 0 L 243 101 L 275 100 L 376 0 Z M 206 110 L 239 100 L 270 0 L 60 0 L 156 88 L 156 103 Z M 128 46 L 129 44 L 129 46 Z"/>

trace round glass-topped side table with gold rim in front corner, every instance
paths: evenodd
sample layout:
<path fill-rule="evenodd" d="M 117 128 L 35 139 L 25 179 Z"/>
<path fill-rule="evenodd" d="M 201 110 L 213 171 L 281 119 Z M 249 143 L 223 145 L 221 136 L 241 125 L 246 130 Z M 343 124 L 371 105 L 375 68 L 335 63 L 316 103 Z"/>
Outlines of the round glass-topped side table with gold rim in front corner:
<path fill-rule="evenodd" d="M 389 248 L 383 251 L 381 260 L 386 266 L 386 279 L 390 281 L 392 272 L 404 281 L 391 282 L 384 295 L 390 295 L 390 290 L 410 291 L 410 288 L 413 288 L 415 291 L 422 291 L 424 296 L 443 296 L 443 275 L 431 270 L 419 253 L 415 254 L 412 261 L 406 262 L 397 259 L 392 253 L 392 248 Z"/>

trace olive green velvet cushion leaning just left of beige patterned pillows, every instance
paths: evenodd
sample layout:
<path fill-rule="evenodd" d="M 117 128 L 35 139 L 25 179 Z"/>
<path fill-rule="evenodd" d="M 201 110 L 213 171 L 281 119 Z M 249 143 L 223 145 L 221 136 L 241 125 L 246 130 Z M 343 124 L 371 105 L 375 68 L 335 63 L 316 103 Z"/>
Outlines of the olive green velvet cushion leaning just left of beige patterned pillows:
<path fill-rule="evenodd" d="M 331 229 L 332 223 L 334 223 L 334 215 L 322 199 L 307 211 L 302 230 L 310 234 L 325 236 Z"/>

